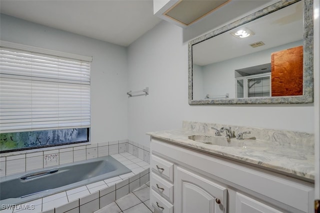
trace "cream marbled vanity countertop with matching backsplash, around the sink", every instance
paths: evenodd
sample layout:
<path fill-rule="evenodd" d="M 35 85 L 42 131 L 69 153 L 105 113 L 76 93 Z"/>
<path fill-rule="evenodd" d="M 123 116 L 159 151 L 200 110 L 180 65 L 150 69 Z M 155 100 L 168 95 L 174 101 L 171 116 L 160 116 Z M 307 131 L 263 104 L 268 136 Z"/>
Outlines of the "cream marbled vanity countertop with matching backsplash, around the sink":
<path fill-rule="evenodd" d="M 220 129 L 230 126 L 235 135 L 242 131 L 251 131 L 244 138 L 256 139 L 231 140 L 260 145 L 236 147 L 219 146 L 197 142 L 188 138 L 190 135 L 214 135 L 211 126 Z M 200 150 L 209 154 L 227 157 L 261 168 L 304 179 L 314 180 L 314 139 L 313 134 L 305 132 L 282 131 L 254 127 L 242 127 L 216 123 L 183 121 L 181 129 L 148 132 L 152 137 L 170 141 L 174 144 Z M 224 137 L 224 132 L 221 136 Z"/>

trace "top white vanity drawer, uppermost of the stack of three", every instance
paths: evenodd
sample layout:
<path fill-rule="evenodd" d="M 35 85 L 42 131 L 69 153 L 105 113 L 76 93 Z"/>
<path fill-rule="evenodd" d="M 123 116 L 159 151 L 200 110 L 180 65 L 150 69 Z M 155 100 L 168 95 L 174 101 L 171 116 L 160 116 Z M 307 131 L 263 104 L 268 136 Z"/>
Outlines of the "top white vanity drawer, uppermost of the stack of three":
<path fill-rule="evenodd" d="M 169 179 L 173 182 L 173 163 L 161 157 L 151 155 L 151 169 L 159 176 Z"/>

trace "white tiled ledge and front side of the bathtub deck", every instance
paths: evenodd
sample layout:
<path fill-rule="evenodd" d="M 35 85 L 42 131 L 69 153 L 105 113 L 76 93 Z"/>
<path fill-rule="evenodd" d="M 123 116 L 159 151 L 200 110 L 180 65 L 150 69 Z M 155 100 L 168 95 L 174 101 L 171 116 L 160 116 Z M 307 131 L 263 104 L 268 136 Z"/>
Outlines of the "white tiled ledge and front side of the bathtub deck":
<path fill-rule="evenodd" d="M 29 208 L 33 208 L 31 205 L 34 205 L 34 209 L 23 210 L 16 207 L 17 209 L 4 209 L 0 212 L 88 213 L 112 203 L 149 181 L 149 164 L 147 162 L 129 152 L 111 154 L 111 156 L 130 168 L 132 172 L 59 192 L 21 205 L 24 207 L 29 206 Z"/>

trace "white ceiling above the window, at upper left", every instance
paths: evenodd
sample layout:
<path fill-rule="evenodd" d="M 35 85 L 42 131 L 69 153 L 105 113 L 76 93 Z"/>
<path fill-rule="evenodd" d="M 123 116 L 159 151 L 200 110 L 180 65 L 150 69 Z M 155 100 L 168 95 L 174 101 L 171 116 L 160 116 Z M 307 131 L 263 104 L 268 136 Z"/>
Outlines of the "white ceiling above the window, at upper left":
<path fill-rule="evenodd" d="M 1 0 L 0 12 L 122 46 L 161 20 L 152 0 Z"/>

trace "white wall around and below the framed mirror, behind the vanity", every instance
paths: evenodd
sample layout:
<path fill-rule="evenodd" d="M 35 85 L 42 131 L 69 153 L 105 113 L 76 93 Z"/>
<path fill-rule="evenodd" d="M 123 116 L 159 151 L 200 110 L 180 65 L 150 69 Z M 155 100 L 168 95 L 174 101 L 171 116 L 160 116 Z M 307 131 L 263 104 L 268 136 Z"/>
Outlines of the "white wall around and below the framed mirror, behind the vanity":
<path fill-rule="evenodd" d="M 147 131 L 180 128 L 182 120 L 313 132 L 313 104 L 188 104 L 187 42 L 182 28 L 165 21 L 128 47 L 128 138 L 148 145 Z M 315 94 L 318 95 L 318 92 Z"/>

